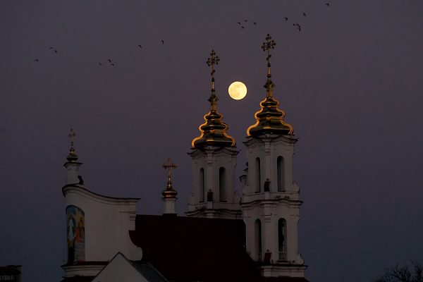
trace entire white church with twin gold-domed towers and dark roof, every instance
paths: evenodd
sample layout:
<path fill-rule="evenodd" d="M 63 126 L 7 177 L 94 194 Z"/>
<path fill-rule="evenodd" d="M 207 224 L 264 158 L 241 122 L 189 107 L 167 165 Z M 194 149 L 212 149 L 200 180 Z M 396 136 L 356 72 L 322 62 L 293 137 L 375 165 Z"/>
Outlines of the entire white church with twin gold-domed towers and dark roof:
<path fill-rule="evenodd" d="M 235 190 L 238 150 L 235 138 L 218 112 L 214 90 L 219 56 L 212 51 L 209 112 L 192 139 L 192 191 L 186 216 L 176 214 L 168 159 L 166 188 L 157 192 L 161 215 L 136 213 L 140 199 L 108 197 L 84 186 L 71 130 L 71 149 L 64 164 L 67 263 L 63 282 L 111 281 L 271 281 L 307 282 L 307 265 L 298 251 L 298 221 L 302 201 L 293 179 L 293 126 L 284 121 L 271 80 L 271 50 L 267 35 L 266 97 L 246 129 L 245 174 Z M 189 144 L 189 143 L 188 143 Z M 187 146 L 188 147 L 188 146 Z M 111 228 L 113 227 L 113 228 Z"/>

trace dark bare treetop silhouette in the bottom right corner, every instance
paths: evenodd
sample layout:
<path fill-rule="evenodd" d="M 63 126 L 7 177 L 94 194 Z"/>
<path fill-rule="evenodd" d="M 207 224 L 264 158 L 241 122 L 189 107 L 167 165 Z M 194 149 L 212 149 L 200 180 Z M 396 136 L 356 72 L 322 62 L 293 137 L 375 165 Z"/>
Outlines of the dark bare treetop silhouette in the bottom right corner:
<path fill-rule="evenodd" d="M 374 282 L 423 282 L 423 265 L 411 261 L 412 266 L 396 266 L 385 269 Z"/>

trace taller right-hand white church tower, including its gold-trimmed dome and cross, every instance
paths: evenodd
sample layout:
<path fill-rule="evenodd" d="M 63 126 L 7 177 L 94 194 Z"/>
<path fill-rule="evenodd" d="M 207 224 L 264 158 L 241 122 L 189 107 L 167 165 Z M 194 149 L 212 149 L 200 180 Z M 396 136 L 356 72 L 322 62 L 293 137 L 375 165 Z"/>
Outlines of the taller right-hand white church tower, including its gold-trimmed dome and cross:
<path fill-rule="evenodd" d="M 241 204 L 246 226 L 247 252 L 262 262 L 263 276 L 304 277 L 306 266 L 298 252 L 300 188 L 293 180 L 293 154 L 297 142 L 293 127 L 283 120 L 271 81 L 271 49 L 276 43 L 267 35 L 266 98 L 247 129 L 246 175 L 241 176 Z"/>

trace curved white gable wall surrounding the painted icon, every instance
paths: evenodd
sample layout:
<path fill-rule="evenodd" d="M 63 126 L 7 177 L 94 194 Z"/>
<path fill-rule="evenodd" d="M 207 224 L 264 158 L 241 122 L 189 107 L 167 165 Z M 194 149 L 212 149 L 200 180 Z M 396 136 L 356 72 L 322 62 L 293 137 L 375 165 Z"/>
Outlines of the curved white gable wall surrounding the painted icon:
<path fill-rule="evenodd" d="M 83 185 L 74 184 L 80 163 L 68 162 L 68 185 L 62 189 L 66 207 L 78 207 L 84 213 L 84 263 L 68 262 L 62 266 L 65 277 L 93 276 L 104 267 L 97 262 L 108 262 L 121 252 L 132 260 L 142 258 L 142 250 L 130 240 L 129 231 L 135 230 L 137 198 L 116 198 L 98 195 Z M 71 169 L 70 169 L 71 168 Z M 78 177 L 77 177 L 78 179 Z M 90 262 L 96 264 L 90 265 Z"/>

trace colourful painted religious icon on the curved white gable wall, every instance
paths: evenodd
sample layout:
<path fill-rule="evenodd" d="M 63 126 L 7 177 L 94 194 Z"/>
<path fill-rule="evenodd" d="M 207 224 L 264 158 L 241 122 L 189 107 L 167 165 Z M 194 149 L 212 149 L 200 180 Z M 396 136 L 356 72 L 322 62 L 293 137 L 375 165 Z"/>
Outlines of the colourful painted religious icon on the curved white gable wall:
<path fill-rule="evenodd" d="M 68 264 L 85 260 L 85 213 L 76 206 L 66 207 Z"/>

